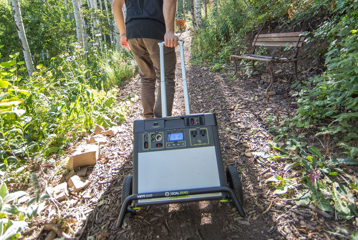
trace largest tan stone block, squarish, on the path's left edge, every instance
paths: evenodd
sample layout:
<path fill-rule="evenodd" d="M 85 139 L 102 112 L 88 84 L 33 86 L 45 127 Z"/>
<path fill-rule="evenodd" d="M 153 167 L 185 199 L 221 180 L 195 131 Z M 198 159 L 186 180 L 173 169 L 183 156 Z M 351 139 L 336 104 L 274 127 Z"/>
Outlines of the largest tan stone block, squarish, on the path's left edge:
<path fill-rule="evenodd" d="M 67 169 L 87 167 L 96 164 L 98 159 L 98 144 L 86 144 L 77 147 L 76 152 L 68 159 Z"/>

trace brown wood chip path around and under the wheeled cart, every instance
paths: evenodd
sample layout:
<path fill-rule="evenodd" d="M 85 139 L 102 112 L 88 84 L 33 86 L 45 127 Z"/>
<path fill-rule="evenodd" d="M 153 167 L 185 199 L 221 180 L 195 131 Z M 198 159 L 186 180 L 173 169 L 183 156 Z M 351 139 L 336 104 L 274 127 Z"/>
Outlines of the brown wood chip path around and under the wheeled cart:
<path fill-rule="evenodd" d="M 294 199 L 274 195 L 275 188 L 266 182 L 273 175 L 285 173 L 285 160 L 273 161 L 262 153 L 275 152 L 269 145 L 274 136 L 267 132 L 265 117 L 293 111 L 289 108 L 292 102 L 289 84 L 276 81 L 277 94 L 262 97 L 266 86 L 259 84 L 260 75 L 257 79 L 240 75 L 228 81 L 227 74 L 211 72 L 209 66 L 190 64 L 190 33 L 179 35 L 186 42 L 191 111 L 215 112 L 223 162 L 226 166 L 234 165 L 241 174 L 247 216 L 240 217 L 230 204 L 202 201 L 143 207 L 135 216 L 127 216 L 123 227 L 116 228 L 122 183 L 132 172 L 132 124 L 142 119 L 140 78 L 136 76 L 123 83 L 118 96 L 134 96 L 127 121 L 121 125 L 124 131 L 107 138 L 108 143 L 100 147 L 97 164 L 88 168 L 85 176 L 91 181 L 89 187 L 79 194 L 70 193 L 65 201 L 50 201 L 41 213 L 42 218 L 30 226 L 24 238 L 45 239 L 51 228 L 41 231 L 42 226 L 56 224 L 74 239 L 91 240 L 339 239 L 322 230 L 336 232 L 337 227 L 349 228 L 353 220 L 339 220 L 335 215 L 317 211 L 315 206 L 298 207 Z M 179 59 L 179 49 L 176 50 Z M 185 115 L 180 61 L 176 77 L 173 115 L 179 116 Z M 324 139 L 320 141 L 327 144 Z M 321 143 L 316 140 L 312 144 Z M 296 174 L 289 172 L 292 178 L 298 177 Z M 65 177 L 66 174 L 55 177 L 52 183 L 64 181 Z M 339 231 L 345 235 L 344 230 Z"/>

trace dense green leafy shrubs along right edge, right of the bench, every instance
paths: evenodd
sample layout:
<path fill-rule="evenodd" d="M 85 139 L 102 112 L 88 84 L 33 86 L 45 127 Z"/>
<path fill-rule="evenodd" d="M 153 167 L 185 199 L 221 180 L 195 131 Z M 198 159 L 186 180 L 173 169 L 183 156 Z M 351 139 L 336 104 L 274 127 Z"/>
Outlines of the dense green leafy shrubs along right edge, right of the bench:
<path fill-rule="evenodd" d="M 349 144 L 358 139 L 358 3 L 339 1 L 333 9 L 336 15 L 314 31 L 316 38 L 331 43 L 326 53 L 327 70 L 305 82 L 297 94 L 296 115 L 284 117 L 281 126 L 312 128 L 325 119 L 328 124 L 320 127 L 317 135 L 333 135 L 353 157 L 358 152 Z"/>

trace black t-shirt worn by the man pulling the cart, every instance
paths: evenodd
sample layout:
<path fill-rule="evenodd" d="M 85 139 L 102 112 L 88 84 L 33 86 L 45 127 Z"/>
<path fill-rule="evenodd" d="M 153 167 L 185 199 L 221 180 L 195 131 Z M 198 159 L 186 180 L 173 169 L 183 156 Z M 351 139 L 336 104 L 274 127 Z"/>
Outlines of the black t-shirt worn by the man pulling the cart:
<path fill-rule="evenodd" d="M 126 37 L 164 40 L 163 0 L 125 0 Z"/>

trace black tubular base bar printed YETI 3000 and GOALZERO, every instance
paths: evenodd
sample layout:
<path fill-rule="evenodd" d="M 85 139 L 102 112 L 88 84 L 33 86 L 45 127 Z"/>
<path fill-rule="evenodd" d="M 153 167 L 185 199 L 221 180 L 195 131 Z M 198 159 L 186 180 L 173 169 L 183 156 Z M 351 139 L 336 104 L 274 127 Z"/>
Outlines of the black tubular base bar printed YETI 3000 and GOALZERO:
<path fill-rule="evenodd" d="M 118 216 L 117 220 L 117 227 L 121 227 L 124 221 L 124 217 L 126 216 L 126 213 L 131 210 L 129 208 L 129 204 L 134 200 L 140 200 L 140 199 L 149 199 L 149 198 L 161 198 L 161 197 L 168 197 L 170 196 L 171 192 L 185 192 L 185 195 L 195 195 L 195 194 L 205 194 L 205 193 L 220 193 L 220 192 L 226 192 L 229 195 L 229 199 L 232 200 L 233 204 L 237 208 L 237 211 L 239 212 L 241 217 L 245 217 L 245 210 L 243 209 L 240 201 L 238 200 L 235 192 L 233 189 L 229 187 L 207 187 L 207 188 L 196 188 L 196 189 L 189 189 L 189 190 L 183 190 L 183 191 L 166 191 L 166 192 L 154 192 L 154 193 L 141 193 L 141 194 L 134 194 L 130 195 L 126 198 L 126 200 L 122 200 L 122 208 Z M 184 196 L 184 195 L 182 195 Z M 223 196 L 225 197 L 225 196 Z M 173 203 L 173 202 L 171 202 Z"/>

